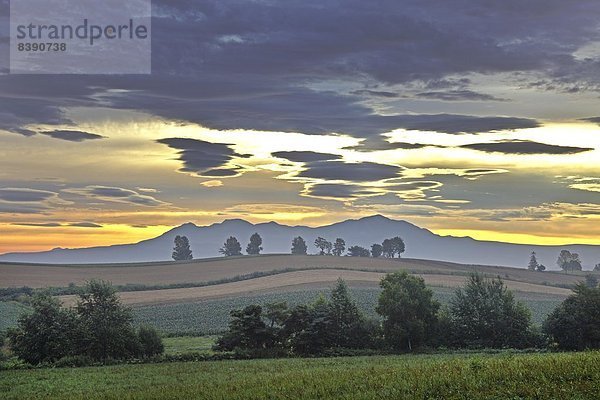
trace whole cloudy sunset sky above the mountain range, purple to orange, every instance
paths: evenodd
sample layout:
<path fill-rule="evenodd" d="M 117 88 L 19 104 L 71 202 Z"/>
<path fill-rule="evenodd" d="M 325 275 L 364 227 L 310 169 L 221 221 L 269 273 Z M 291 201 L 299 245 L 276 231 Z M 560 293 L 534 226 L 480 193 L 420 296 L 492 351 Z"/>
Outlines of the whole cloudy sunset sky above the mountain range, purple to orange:
<path fill-rule="evenodd" d="M 0 253 L 372 214 L 600 244 L 597 0 L 152 7 L 150 75 L 0 63 Z"/>

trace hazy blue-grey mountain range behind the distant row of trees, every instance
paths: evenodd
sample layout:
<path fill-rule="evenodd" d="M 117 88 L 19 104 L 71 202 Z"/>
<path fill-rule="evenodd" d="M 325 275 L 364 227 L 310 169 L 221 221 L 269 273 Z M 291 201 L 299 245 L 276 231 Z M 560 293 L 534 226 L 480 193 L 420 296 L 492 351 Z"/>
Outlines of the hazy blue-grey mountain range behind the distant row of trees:
<path fill-rule="evenodd" d="M 216 257 L 219 256 L 219 248 L 229 236 L 236 236 L 245 250 L 246 243 L 254 232 L 262 236 L 265 254 L 289 253 L 291 241 L 296 236 L 302 236 L 306 240 L 309 253 L 317 252 L 313 243 L 319 236 L 331 241 L 341 237 L 346 241 L 347 247 L 360 245 L 368 248 L 373 243 L 381 243 L 385 238 L 401 236 L 406 243 L 406 252 L 403 256 L 411 258 L 525 268 L 530 253 L 535 251 L 540 263 L 546 265 L 548 269 L 558 269 L 556 266 L 558 253 L 562 249 L 567 249 L 579 253 L 584 269 L 592 269 L 600 262 L 600 246 L 518 245 L 478 241 L 468 237 L 440 236 L 406 221 L 392 220 L 381 215 L 315 228 L 286 226 L 276 222 L 251 224 L 241 219 L 226 220 L 209 226 L 187 223 L 154 239 L 135 244 L 54 249 L 37 253 L 9 253 L 0 255 L 0 261 L 50 264 L 166 261 L 171 258 L 173 240 L 177 235 L 185 235 L 190 239 L 194 257 Z"/>

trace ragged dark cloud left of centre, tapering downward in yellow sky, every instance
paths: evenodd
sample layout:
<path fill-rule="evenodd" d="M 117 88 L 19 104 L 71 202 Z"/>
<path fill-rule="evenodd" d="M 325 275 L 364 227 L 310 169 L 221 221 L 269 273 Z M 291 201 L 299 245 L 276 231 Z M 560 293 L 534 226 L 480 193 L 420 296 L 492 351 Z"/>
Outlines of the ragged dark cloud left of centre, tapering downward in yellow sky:
<path fill-rule="evenodd" d="M 203 140 L 169 138 L 157 140 L 172 149 L 179 150 L 179 160 L 183 162 L 182 172 L 192 172 L 206 176 L 233 176 L 237 168 L 222 168 L 236 157 L 247 157 L 236 153 L 230 144 L 211 143 Z"/>

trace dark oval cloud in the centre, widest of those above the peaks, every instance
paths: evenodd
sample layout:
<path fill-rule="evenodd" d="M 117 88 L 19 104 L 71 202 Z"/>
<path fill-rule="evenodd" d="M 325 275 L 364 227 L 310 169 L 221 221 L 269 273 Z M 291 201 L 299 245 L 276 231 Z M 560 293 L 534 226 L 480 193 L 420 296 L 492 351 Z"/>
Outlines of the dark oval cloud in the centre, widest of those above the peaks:
<path fill-rule="evenodd" d="M 297 176 L 329 181 L 374 182 L 396 178 L 404 168 L 395 165 L 362 162 L 322 161 L 306 165 Z"/>

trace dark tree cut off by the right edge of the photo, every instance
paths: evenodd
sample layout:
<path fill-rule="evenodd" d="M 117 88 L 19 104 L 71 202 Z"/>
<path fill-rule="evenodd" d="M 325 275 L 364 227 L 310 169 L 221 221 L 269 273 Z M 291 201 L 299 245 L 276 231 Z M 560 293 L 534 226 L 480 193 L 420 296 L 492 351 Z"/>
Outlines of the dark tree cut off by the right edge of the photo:
<path fill-rule="evenodd" d="M 600 288 L 578 284 L 544 323 L 546 332 L 564 350 L 600 349 Z"/>

